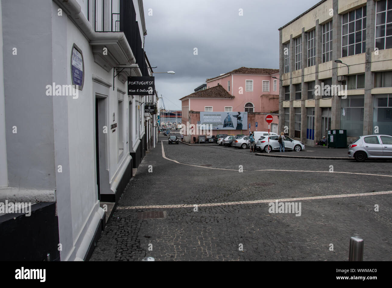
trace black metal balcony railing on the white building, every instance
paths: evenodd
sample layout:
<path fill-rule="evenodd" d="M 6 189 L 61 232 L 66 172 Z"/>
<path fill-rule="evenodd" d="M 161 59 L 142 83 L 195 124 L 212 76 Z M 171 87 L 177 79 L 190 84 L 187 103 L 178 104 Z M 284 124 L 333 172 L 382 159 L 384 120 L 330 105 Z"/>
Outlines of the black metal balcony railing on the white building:
<path fill-rule="evenodd" d="M 116 11 L 116 7 L 114 7 L 113 11 L 113 0 L 111 1 L 110 13 L 105 13 L 103 2 L 103 0 L 95 0 L 95 32 L 123 32 L 132 49 L 132 53 L 136 58 L 136 63 L 139 65 L 142 75 L 149 76 L 133 1 L 119 0 L 119 13 Z M 105 29 L 105 15 L 111 15 L 111 25 L 109 29 Z"/>

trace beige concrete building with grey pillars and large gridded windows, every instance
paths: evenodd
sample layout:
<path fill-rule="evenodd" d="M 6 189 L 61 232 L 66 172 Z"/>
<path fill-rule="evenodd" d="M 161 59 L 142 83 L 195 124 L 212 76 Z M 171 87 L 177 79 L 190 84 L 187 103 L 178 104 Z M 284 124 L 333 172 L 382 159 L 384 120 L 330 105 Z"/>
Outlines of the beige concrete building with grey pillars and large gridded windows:
<path fill-rule="evenodd" d="M 390 0 L 323 0 L 279 28 L 279 130 L 308 144 L 330 129 L 392 134 L 388 15 Z"/>

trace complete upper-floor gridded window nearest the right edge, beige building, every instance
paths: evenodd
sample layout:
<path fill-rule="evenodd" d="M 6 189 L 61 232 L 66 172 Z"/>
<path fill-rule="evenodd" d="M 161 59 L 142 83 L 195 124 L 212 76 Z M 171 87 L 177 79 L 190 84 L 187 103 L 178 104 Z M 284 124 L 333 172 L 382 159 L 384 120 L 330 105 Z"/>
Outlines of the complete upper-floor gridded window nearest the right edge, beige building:
<path fill-rule="evenodd" d="M 342 57 L 365 53 L 366 6 L 342 16 Z"/>

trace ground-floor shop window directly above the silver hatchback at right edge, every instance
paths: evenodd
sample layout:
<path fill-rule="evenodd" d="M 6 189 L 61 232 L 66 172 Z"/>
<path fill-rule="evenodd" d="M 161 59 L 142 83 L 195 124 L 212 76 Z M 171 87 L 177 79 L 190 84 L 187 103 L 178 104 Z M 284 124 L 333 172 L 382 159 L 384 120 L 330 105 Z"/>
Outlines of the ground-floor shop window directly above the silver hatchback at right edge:
<path fill-rule="evenodd" d="M 392 94 L 374 95 L 373 107 L 373 132 L 392 135 Z"/>

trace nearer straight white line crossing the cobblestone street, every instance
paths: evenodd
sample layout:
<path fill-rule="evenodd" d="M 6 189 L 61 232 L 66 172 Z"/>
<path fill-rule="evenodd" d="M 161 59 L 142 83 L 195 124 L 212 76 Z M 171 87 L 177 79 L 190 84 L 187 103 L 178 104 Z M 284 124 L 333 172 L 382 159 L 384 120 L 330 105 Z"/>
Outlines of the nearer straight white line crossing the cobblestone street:
<path fill-rule="evenodd" d="M 345 197 L 358 197 L 358 196 L 373 196 L 392 194 L 392 191 L 381 191 L 381 192 L 367 192 L 357 194 L 340 194 L 340 195 L 325 195 L 325 196 L 313 196 L 313 197 L 298 197 L 298 198 L 281 198 L 281 199 L 265 199 L 265 200 L 253 200 L 253 201 L 234 201 L 234 202 L 222 202 L 222 203 L 203 203 L 197 204 L 198 207 L 208 206 L 224 206 L 224 205 L 241 205 L 241 204 L 261 204 L 270 202 L 294 202 L 302 200 L 314 200 L 314 199 L 332 199 L 332 198 L 345 198 Z M 151 209 L 151 208 L 192 208 L 195 204 L 176 204 L 176 205 L 145 205 L 145 206 L 117 206 L 117 209 Z"/>

